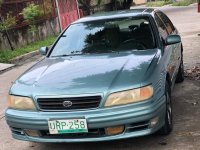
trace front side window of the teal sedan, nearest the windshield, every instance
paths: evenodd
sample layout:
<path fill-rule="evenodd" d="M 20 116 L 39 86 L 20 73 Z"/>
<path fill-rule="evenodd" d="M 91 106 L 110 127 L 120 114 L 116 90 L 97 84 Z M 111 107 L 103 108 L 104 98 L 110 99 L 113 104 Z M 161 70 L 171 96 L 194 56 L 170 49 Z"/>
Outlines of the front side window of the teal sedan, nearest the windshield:
<path fill-rule="evenodd" d="M 164 25 L 162 20 L 156 14 L 155 14 L 155 21 L 157 23 L 158 31 L 160 33 L 160 36 L 162 37 L 163 40 L 165 40 L 166 37 L 168 36 L 168 32 L 167 32 L 166 26 Z"/>

